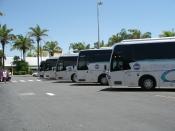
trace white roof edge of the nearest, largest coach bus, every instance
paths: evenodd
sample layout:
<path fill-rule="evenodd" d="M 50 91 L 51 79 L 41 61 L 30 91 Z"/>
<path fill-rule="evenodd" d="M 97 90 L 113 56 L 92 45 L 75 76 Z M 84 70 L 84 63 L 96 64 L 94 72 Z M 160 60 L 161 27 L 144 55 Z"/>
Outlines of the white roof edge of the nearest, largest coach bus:
<path fill-rule="evenodd" d="M 116 43 L 114 46 L 123 44 L 145 44 L 145 43 L 159 43 L 159 42 L 175 42 L 175 37 L 129 39 Z"/>

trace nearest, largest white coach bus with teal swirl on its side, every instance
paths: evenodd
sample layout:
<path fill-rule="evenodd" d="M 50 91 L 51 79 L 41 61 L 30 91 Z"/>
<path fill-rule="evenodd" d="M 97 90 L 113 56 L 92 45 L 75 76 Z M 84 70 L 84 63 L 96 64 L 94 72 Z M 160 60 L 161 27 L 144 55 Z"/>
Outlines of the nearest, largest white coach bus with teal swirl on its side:
<path fill-rule="evenodd" d="M 124 40 L 113 47 L 110 86 L 175 86 L 175 38 Z"/>

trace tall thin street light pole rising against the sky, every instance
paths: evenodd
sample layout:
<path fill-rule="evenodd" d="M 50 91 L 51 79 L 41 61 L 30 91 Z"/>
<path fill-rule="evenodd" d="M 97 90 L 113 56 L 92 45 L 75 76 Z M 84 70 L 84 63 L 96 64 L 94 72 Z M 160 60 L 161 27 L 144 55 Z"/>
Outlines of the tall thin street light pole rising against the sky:
<path fill-rule="evenodd" d="M 97 26 L 98 26 L 98 44 L 97 48 L 100 48 L 100 19 L 99 19 L 99 6 L 103 3 L 99 0 L 97 0 Z"/>

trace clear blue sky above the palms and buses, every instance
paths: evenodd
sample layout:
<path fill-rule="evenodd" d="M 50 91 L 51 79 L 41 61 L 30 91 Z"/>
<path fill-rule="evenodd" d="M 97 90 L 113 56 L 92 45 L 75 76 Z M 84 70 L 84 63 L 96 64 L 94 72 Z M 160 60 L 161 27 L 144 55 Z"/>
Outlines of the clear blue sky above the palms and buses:
<path fill-rule="evenodd" d="M 175 27 L 174 0 L 101 0 L 100 38 L 105 43 L 122 28 L 151 32 L 153 37 Z M 48 29 L 44 41 L 56 40 L 64 52 L 72 42 L 97 41 L 97 0 L 0 0 L 0 24 L 26 34 L 36 24 Z M 7 56 L 20 55 L 6 46 Z"/>

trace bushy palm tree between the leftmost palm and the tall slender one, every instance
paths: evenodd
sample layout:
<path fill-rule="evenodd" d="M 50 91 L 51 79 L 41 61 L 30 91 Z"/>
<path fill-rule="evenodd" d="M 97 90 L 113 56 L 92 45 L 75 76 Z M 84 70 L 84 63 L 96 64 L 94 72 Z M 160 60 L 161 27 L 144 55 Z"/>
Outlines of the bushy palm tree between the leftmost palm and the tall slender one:
<path fill-rule="evenodd" d="M 32 43 L 32 39 L 30 39 L 28 36 L 18 35 L 17 39 L 14 42 L 12 50 L 17 49 L 22 51 L 23 60 L 25 61 L 26 52 L 33 47 Z"/>

